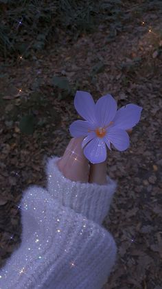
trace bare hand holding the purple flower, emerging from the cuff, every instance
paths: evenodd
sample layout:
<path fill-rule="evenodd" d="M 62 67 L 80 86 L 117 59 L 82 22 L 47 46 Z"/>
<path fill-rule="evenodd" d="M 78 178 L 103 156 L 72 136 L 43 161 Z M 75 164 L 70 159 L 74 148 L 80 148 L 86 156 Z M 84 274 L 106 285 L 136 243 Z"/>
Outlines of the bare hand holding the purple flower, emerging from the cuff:
<path fill-rule="evenodd" d="M 132 130 L 127 130 L 131 133 Z M 106 163 L 90 163 L 84 156 L 82 141 L 84 137 L 75 137 L 69 141 L 64 155 L 59 159 L 57 165 L 67 179 L 80 181 L 82 183 L 106 184 Z M 108 152 L 108 149 L 107 149 Z"/>

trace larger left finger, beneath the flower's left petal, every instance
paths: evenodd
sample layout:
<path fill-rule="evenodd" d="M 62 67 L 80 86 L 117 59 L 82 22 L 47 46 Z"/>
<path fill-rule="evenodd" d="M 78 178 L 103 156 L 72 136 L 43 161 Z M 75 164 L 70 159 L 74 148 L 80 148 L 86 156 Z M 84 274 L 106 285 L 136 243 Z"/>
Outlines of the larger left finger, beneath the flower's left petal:
<path fill-rule="evenodd" d="M 62 174 L 71 181 L 89 181 L 89 161 L 82 151 L 84 137 L 73 138 L 65 150 L 64 155 L 57 165 Z"/>

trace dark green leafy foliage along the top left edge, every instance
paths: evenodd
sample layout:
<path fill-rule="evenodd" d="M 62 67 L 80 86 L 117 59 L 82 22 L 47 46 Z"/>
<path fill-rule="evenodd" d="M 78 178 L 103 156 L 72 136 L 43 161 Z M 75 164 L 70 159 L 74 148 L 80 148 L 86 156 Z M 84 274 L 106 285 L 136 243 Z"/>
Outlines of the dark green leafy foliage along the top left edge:
<path fill-rule="evenodd" d="M 120 28 L 121 8 L 120 0 L 0 0 L 0 55 L 29 57 L 57 38 L 59 29 L 76 39 L 104 21 Z"/>

